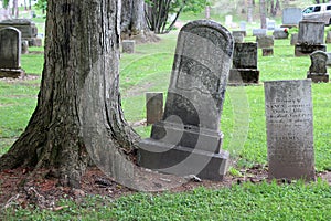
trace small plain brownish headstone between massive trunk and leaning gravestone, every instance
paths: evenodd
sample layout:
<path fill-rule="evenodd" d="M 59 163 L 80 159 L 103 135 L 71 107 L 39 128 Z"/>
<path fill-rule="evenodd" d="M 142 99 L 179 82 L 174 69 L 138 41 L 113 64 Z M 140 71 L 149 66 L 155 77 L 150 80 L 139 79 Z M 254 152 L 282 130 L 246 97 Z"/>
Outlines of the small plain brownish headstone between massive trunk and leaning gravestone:
<path fill-rule="evenodd" d="M 163 93 L 147 92 L 146 93 L 146 122 L 147 125 L 161 120 L 163 115 Z"/>

